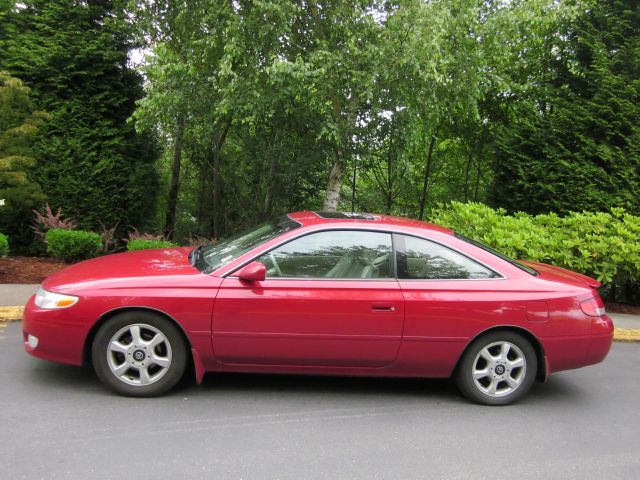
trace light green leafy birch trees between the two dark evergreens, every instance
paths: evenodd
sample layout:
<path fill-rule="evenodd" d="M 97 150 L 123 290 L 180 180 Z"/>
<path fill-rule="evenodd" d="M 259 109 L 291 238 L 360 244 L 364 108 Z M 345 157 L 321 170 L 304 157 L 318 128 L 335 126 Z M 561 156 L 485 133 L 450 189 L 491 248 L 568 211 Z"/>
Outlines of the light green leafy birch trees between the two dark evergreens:
<path fill-rule="evenodd" d="M 140 2 L 151 54 L 135 118 L 165 145 L 156 229 L 219 238 L 279 211 L 418 216 L 435 199 L 485 198 L 480 102 L 509 88 L 494 65 L 532 50 L 563 8 Z"/>

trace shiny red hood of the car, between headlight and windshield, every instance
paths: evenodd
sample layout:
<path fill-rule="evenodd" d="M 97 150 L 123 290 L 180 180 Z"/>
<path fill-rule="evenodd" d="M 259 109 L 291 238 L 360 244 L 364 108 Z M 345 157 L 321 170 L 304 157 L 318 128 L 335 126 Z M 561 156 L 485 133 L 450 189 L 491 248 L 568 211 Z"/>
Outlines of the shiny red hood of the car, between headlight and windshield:
<path fill-rule="evenodd" d="M 189 277 L 202 275 L 189 262 L 192 248 L 138 250 L 105 255 L 54 273 L 45 279 L 42 287 L 45 290 L 65 292 L 79 287 L 155 286 L 167 279 L 178 286 Z"/>

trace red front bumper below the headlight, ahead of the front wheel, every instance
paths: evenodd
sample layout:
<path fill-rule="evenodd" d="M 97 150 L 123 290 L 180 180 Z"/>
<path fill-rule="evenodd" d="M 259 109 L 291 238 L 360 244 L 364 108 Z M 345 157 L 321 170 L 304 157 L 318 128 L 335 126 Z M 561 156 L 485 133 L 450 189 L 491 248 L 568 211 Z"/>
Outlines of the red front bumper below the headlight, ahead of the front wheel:
<path fill-rule="evenodd" d="M 44 310 L 35 305 L 34 299 L 29 299 L 22 317 L 24 349 L 34 357 L 81 365 L 88 326 L 76 321 L 70 310 Z M 29 335 L 37 338 L 35 347 L 29 344 Z"/>

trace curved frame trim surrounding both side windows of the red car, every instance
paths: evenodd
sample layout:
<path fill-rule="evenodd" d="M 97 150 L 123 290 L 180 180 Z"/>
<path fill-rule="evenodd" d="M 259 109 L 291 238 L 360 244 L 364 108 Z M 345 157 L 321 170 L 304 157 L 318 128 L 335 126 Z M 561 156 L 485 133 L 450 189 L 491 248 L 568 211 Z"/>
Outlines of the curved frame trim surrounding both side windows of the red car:
<path fill-rule="evenodd" d="M 272 247 L 251 256 L 249 259 L 241 262 L 240 264 L 238 264 L 238 266 L 234 267 L 232 270 L 229 270 L 228 272 L 225 272 L 223 274 L 220 275 L 220 278 L 225 279 L 225 278 L 238 278 L 237 275 L 235 275 L 235 273 L 240 270 L 241 268 L 245 267 L 246 265 L 250 264 L 251 262 L 255 262 L 258 258 L 260 258 L 263 255 L 267 255 L 269 252 L 272 252 L 273 250 L 275 250 L 276 248 L 281 247 L 282 245 L 285 245 L 289 242 L 292 242 L 293 240 L 297 240 L 298 238 L 302 238 L 305 237 L 307 235 L 312 235 L 315 233 L 322 233 L 322 232 L 337 232 L 337 231 L 356 231 L 356 232 L 373 232 L 373 233 L 386 233 L 388 235 L 391 236 L 391 255 L 393 256 L 393 272 L 391 272 L 393 274 L 392 277 L 388 277 L 388 278 L 326 278 L 326 277 L 268 277 L 265 279 L 266 280 L 277 280 L 277 281 L 330 281 L 330 282 L 362 282 L 362 281 L 366 281 L 366 282 L 389 282 L 389 281 L 395 281 L 395 282 L 486 282 L 486 281 L 500 281 L 500 280 L 507 280 L 507 276 L 502 273 L 499 270 L 496 270 L 493 267 L 490 267 L 489 265 L 487 265 L 485 262 L 482 262 L 480 260 L 478 260 L 477 258 L 460 251 L 459 249 L 451 246 L 451 245 L 447 245 L 443 242 L 440 242 L 438 240 L 435 240 L 433 238 L 429 238 L 429 237 L 423 237 L 421 235 L 416 235 L 414 233 L 407 233 L 407 232 L 397 232 L 394 230 L 389 230 L 388 228 L 371 228 L 371 227 L 363 227 L 363 228 L 358 228 L 358 227 L 349 227 L 349 226 L 345 226 L 345 227 L 329 227 L 327 228 L 326 226 L 323 226 L 324 228 L 318 228 L 318 229 L 314 229 L 314 230 L 310 230 L 310 231 L 306 231 L 306 232 L 299 232 L 297 235 L 291 236 L 289 238 L 284 239 L 282 242 L 279 242 L 275 245 L 273 245 Z M 485 268 L 497 273 L 498 275 L 500 275 L 499 277 L 496 278 L 449 278 L 449 279 L 441 279 L 441 278 L 432 278 L 432 279 L 421 279 L 421 278 L 398 278 L 398 260 L 397 260 L 397 246 L 396 246 L 396 241 L 394 239 L 394 237 L 396 235 L 404 235 L 404 236 L 408 236 L 408 237 L 415 237 L 418 238 L 420 240 L 426 240 L 428 242 L 433 242 L 433 243 L 437 243 L 438 245 L 441 245 L 444 248 L 448 248 L 450 250 L 453 250 L 456 253 L 459 253 L 460 255 L 463 255 L 467 258 L 469 258 L 470 260 L 484 266 Z M 454 237 L 455 238 L 455 237 Z M 258 247 L 259 248 L 259 247 Z M 499 257 L 498 257 L 499 258 Z"/>

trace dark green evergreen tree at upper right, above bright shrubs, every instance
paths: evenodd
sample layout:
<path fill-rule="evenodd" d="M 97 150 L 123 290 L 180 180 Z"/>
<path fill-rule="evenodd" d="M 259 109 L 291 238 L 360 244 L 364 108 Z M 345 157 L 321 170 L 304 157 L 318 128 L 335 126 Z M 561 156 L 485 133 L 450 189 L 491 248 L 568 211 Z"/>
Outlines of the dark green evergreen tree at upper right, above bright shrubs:
<path fill-rule="evenodd" d="M 492 201 L 509 211 L 640 214 L 640 9 L 582 3 L 504 97 Z"/>

